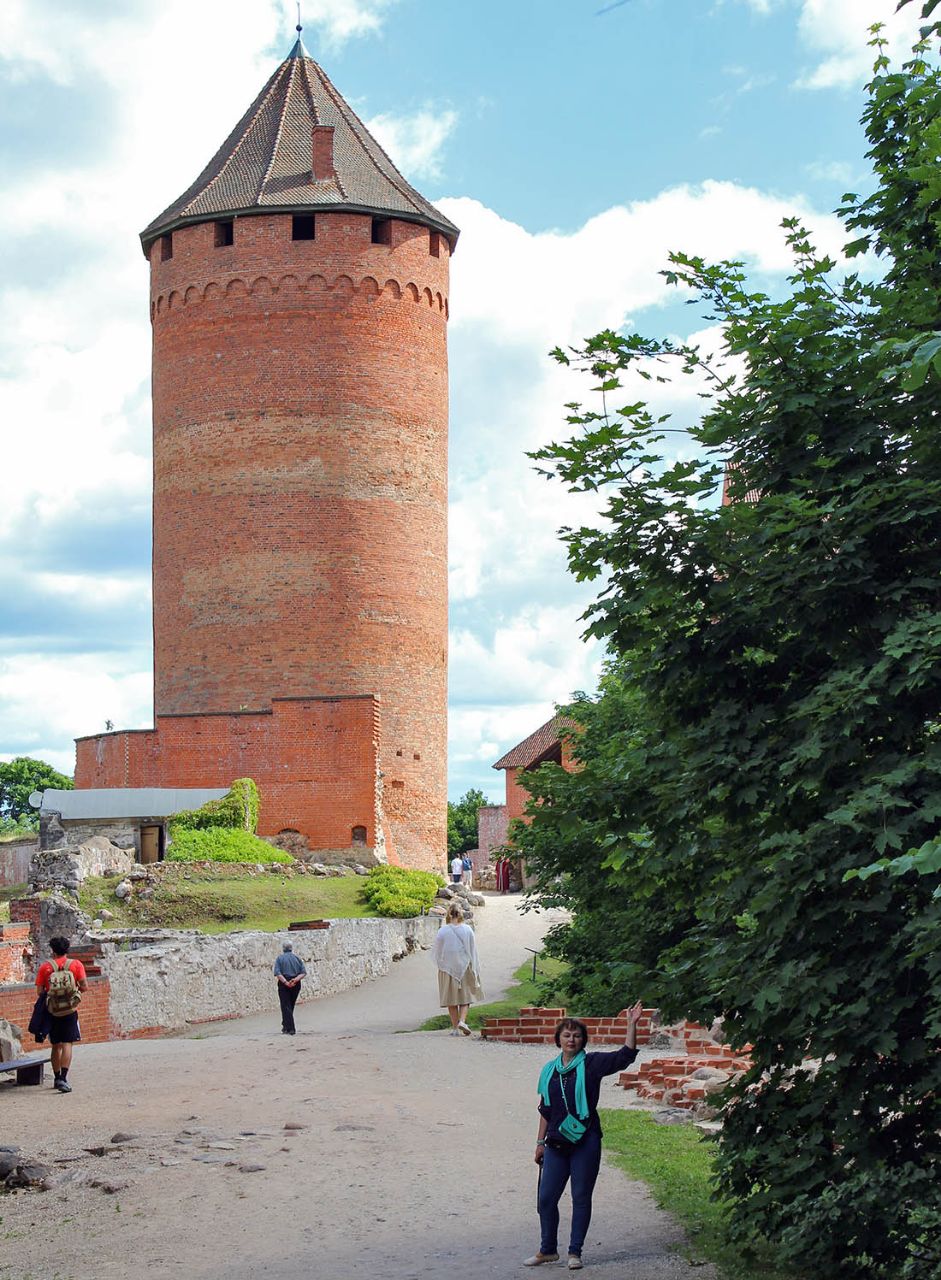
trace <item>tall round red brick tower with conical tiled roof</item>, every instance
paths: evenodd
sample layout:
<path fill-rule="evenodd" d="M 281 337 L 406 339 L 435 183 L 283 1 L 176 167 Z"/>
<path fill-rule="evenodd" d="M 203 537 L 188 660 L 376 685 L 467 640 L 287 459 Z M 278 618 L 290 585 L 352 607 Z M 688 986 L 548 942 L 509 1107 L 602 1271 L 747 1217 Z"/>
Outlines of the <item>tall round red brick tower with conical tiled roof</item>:
<path fill-rule="evenodd" d="M 367 842 L 384 835 L 414 867 L 438 867 L 446 849 L 456 239 L 300 40 L 141 236 L 154 325 L 156 731 L 241 713 L 223 735 L 237 749 L 211 746 L 229 781 L 273 704 L 378 695 L 384 832 Z M 321 716 L 291 728 L 305 732 L 330 727 Z M 83 741 L 93 740 L 79 740 L 79 785 L 117 785 L 83 771 Z M 118 782 L 197 781 L 198 769 L 163 755 L 159 777 L 125 771 Z M 303 765 L 269 763 L 274 783 L 303 785 L 287 778 Z M 198 781 L 210 785 L 205 769 Z M 330 787 L 315 781 L 323 817 Z M 305 820 L 269 805 L 260 829 Z"/>

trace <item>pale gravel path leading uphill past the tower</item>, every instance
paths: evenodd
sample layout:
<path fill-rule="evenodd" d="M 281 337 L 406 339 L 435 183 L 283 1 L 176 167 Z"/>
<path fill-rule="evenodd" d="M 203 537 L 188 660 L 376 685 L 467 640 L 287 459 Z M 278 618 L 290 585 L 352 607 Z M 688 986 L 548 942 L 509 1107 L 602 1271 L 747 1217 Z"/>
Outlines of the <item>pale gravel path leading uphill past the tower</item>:
<path fill-rule="evenodd" d="M 517 904 L 490 897 L 479 913 L 488 998 L 552 923 Z M 426 954 L 298 1006 L 293 1038 L 278 1033 L 275 1006 L 273 986 L 270 1018 L 79 1046 L 67 1097 L 0 1085 L 0 1143 L 65 1161 L 67 1179 L 0 1199 L 0 1277 L 534 1274 L 520 1261 L 538 1245 L 531 1152 L 545 1048 L 396 1034 L 437 1011 Z M 621 1096 L 608 1085 L 602 1102 Z M 129 1140 L 113 1143 L 118 1133 Z M 606 1165 L 585 1274 L 714 1280 L 680 1244 L 643 1185 Z"/>

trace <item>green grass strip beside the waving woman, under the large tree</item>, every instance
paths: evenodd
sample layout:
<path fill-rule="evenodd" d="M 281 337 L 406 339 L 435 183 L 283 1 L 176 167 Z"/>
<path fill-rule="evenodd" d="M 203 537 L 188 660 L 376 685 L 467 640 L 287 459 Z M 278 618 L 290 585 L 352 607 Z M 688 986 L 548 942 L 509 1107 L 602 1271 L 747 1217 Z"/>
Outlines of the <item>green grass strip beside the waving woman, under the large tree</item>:
<path fill-rule="evenodd" d="M 711 1143 L 693 1125 L 655 1124 L 643 1111 L 602 1111 L 604 1149 L 618 1167 L 648 1184 L 689 1238 L 693 1265 L 713 1262 L 722 1280 L 800 1280 L 769 1245 L 745 1256 L 726 1244 L 725 1211 L 711 1199 Z"/>

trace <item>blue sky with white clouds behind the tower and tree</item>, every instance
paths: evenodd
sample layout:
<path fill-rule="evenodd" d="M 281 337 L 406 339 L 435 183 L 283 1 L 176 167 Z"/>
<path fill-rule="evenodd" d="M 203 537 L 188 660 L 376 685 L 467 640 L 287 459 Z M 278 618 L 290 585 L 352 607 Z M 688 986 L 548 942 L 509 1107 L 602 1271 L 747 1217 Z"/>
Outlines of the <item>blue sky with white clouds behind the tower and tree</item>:
<path fill-rule="evenodd" d="M 303 0 L 311 55 L 461 229 L 451 282 L 451 795 L 600 653 L 556 538 L 577 503 L 525 452 L 598 329 L 703 325 L 671 250 L 773 289 L 781 219 L 839 246 L 867 183 L 867 26 L 895 0 Z M 913 6 L 914 8 L 914 6 Z M 909 10 L 910 13 L 910 10 Z M 137 232 L 294 38 L 284 0 L 0 8 L 0 759 L 152 723 L 150 332 Z M 908 29 L 905 29 L 908 28 Z M 680 419 L 695 402 L 675 403 Z"/>

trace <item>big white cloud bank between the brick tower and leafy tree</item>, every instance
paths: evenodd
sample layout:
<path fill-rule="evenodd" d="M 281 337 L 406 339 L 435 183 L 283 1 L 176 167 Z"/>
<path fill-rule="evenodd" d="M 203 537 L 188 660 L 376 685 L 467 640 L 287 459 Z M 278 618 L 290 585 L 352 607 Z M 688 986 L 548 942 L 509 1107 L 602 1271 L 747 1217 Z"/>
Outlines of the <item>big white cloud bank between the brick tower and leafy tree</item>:
<path fill-rule="evenodd" d="M 452 264 L 451 376 L 454 419 L 451 475 L 452 794 L 488 790 L 489 759 L 549 718 L 554 703 L 595 687 L 602 652 L 580 639 L 580 614 L 597 584 L 567 573 L 557 530 L 597 518 L 598 499 L 567 494 L 535 474 L 526 451 L 565 439 L 566 402 L 590 383 L 547 352 L 603 328 L 662 332 L 650 315 L 677 301 L 658 274 L 671 250 L 707 260 L 744 259 L 759 275 L 791 269 L 781 219 L 799 214 L 819 246 L 839 256 L 840 224 L 799 197 L 732 183 L 676 187 L 650 201 L 607 210 L 571 234 L 531 233 L 478 201 L 444 200 L 461 227 Z M 690 320 L 696 314 L 691 311 Z M 714 328 L 677 337 L 714 351 Z M 702 383 L 655 393 L 658 412 L 689 424 Z M 653 398 L 650 384 L 625 399 Z M 685 451 L 685 436 L 667 448 Z M 548 602 L 548 603 L 547 603 Z M 502 787 L 497 783 L 497 795 Z M 490 795 L 494 794 L 490 783 Z"/>

